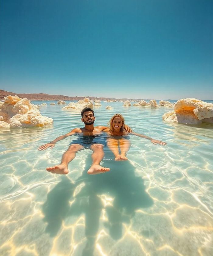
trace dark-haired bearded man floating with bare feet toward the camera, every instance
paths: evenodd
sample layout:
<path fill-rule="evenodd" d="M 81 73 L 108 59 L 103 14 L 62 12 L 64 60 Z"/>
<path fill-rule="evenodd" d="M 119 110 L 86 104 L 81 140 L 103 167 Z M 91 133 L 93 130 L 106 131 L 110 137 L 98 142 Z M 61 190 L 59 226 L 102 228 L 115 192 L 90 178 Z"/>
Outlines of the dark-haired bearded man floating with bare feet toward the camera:
<path fill-rule="evenodd" d="M 103 159 L 104 152 L 103 146 L 106 144 L 106 140 L 100 139 L 98 135 L 105 129 L 106 126 L 96 126 L 94 127 L 95 116 L 94 111 L 91 108 L 84 108 L 81 112 L 82 122 L 85 124 L 84 128 L 75 128 L 71 132 L 59 136 L 55 140 L 44 144 L 38 148 L 38 150 L 45 150 L 47 148 L 53 148 L 59 140 L 63 140 L 66 137 L 74 135 L 76 133 L 82 133 L 82 138 L 74 140 L 71 142 L 68 150 L 63 154 L 60 165 L 55 165 L 52 167 L 47 167 L 48 172 L 58 173 L 58 174 L 67 174 L 68 171 L 68 163 L 71 162 L 75 158 L 76 152 L 82 150 L 83 148 L 90 148 L 93 151 L 92 160 L 93 163 L 89 170 L 88 174 L 99 174 L 103 172 L 110 171 L 109 168 L 100 166 L 100 162 Z M 128 126 L 124 126 L 124 129 L 129 132 L 131 129 Z"/>

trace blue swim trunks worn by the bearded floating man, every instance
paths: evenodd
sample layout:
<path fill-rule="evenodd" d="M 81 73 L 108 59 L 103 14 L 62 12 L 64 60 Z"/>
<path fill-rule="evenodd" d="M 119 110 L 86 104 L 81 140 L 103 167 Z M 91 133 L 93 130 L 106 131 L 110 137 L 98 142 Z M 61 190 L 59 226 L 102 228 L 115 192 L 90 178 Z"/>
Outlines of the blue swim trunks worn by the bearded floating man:
<path fill-rule="evenodd" d="M 90 148 L 93 144 L 102 144 L 106 146 L 106 136 L 103 135 L 81 135 L 77 140 L 73 140 L 70 145 L 72 144 L 80 144 L 84 148 Z"/>

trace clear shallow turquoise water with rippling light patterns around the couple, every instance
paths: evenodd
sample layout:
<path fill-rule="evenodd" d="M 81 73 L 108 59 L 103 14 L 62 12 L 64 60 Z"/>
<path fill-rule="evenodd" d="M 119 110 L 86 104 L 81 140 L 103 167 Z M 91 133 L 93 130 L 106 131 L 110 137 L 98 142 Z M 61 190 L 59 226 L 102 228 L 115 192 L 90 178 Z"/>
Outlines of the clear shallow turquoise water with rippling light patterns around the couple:
<path fill-rule="evenodd" d="M 129 161 L 115 162 L 104 148 L 110 172 L 88 175 L 92 151 L 84 149 L 60 176 L 45 169 L 77 136 L 37 148 L 83 123 L 80 112 L 49 105 L 57 101 L 32 101 L 43 102 L 53 126 L 0 133 L 0 255 L 212 255 L 213 126 L 163 122 L 171 108 L 101 102 L 96 126 L 121 113 L 135 132 L 167 146 L 131 135 Z"/>

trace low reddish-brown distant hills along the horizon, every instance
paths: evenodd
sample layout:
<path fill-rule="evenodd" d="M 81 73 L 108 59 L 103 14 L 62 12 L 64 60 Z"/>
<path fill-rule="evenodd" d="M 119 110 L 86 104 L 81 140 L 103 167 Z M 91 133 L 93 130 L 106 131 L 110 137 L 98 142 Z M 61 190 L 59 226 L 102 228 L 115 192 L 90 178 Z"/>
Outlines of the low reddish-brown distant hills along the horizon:
<path fill-rule="evenodd" d="M 63 101 L 79 101 L 86 98 L 89 98 L 91 100 L 101 100 L 101 101 L 106 101 L 107 99 L 110 100 L 139 100 L 139 99 L 116 99 L 116 98 L 104 98 L 104 97 L 92 97 L 92 96 L 84 96 L 84 97 L 69 97 L 69 96 L 64 96 L 64 95 L 50 95 L 50 94 L 46 94 L 46 93 L 14 93 L 14 92 L 8 92 L 8 91 L 3 91 L 0 90 L 0 100 L 3 100 L 4 97 L 8 96 L 8 95 L 18 95 L 19 98 L 27 98 L 28 100 L 31 101 L 59 101 L 59 100 L 63 100 Z"/>

